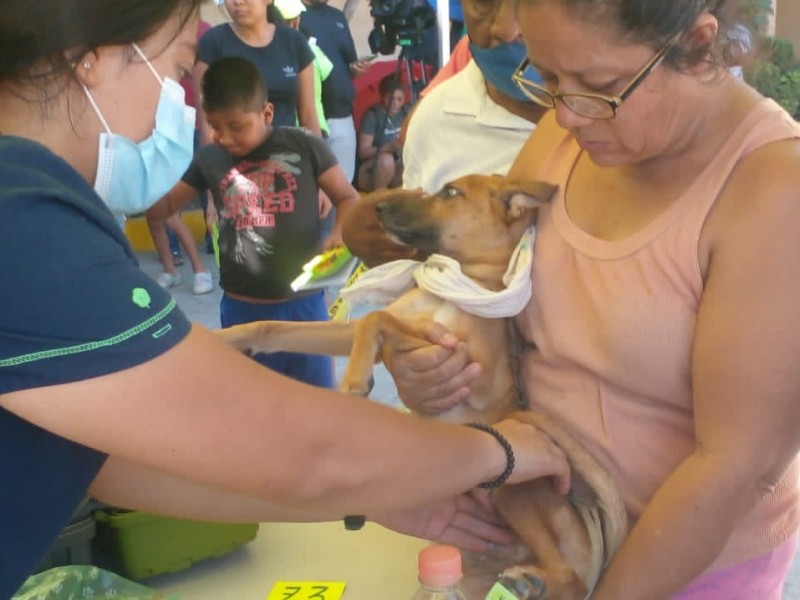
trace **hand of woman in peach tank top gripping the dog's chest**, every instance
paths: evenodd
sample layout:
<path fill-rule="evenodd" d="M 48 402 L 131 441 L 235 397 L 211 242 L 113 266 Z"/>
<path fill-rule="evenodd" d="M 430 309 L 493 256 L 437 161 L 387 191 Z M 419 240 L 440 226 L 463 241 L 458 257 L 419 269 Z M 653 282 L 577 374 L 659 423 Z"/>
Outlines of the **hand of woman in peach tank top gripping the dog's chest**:
<path fill-rule="evenodd" d="M 469 362 L 467 345 L 439 323 L 431 322 L 423 330 L 431 345 L 396 353 L 386 368 L 406 406 L 436 415 L 463 402 L 482 368 Z"/>

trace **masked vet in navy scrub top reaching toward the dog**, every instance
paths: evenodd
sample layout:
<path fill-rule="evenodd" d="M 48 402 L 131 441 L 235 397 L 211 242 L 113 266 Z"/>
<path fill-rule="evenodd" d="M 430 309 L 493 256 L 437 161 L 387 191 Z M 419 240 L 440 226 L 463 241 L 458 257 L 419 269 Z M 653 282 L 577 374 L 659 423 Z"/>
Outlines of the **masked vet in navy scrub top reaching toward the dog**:
<path fill-rule="evenodd" d="M 117 170 L 153 202 L 186 168 L 183 121 L 159 115 L 191 121 L 175 90 L 200 4 L 0 11 L 0 598 L 87 493 L 193 519 L 365 514 L 475 549 L 510 541 L 460 495 L 506 470 L 492 435 L 264 369 L 189 323 L 138 268 L 104 199 L 125 198 Z M 193 375 L 176 377 L 186 365 Z M 516 454 L 510 481 L 557 474 L 568 486 L 546 438 L 518 421 L 496 429 Z"/>

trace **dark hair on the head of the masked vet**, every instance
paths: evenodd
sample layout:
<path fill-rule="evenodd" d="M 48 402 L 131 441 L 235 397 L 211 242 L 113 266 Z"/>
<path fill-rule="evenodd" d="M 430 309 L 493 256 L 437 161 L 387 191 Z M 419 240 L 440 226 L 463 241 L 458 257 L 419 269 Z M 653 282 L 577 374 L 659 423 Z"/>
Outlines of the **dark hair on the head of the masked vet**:
<path fill-rule="evenodd" d="M 0 84 L 44 83 L 64 75 L 87 52 L 146 39 L 173 15 L 180 15 L 181 24 L 185 24 L 202 3 L 202 0 L 3 0 Z"/>

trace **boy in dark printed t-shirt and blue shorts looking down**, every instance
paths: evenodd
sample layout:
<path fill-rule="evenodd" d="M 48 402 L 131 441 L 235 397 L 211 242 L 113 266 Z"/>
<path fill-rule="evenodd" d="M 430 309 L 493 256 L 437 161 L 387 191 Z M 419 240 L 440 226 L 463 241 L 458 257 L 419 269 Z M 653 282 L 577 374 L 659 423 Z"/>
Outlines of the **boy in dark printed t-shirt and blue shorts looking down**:
<path fill-rule="evenodd" d="M 202 81 L 202 104 L 215 143 L 195 153 L 182 180 L 148 218 L 165 219 L 210 190 L 218 214 L 223 327 L 326 320 L 323 292 L 295 293 L 290 283 L 315 254 L 342 244 L 342 219 L 358 192 L 322 139 L 303 129 L 272 127 L 266 86 L 248 60 L 212 63 Z M 319 188 L 338 209 L 325 240 Z M 300 381 L 333 386 L 328 357 L 279 352 L 255 359 Z"/>

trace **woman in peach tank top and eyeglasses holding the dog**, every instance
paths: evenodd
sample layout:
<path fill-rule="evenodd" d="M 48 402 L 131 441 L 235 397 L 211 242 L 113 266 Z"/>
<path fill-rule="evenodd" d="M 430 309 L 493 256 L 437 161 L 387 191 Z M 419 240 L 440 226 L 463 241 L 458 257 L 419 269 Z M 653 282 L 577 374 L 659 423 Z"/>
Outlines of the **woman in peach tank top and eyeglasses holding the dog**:
<path fill-rule="evenodd" d="M 633 523 L 593 600 L 777 600 L 797 546 L 800 126 L 729 74 L 734 4 L 517 1 L 553 110 L 510 176 L 560 186 L 522 376 Z M 479 370 L 445 339 L 390 365 L 416 409 Z"/>

